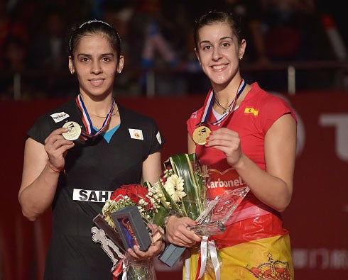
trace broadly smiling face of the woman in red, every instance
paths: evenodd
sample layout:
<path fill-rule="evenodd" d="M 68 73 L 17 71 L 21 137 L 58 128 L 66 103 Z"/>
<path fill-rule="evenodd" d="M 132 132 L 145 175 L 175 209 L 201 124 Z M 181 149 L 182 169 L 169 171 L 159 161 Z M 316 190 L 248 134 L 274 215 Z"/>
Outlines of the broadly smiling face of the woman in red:
<path fill-rule="evenodd" d="M 227 23 L 212 23 L 200 28 L 195 52 L 213 87 L 227 86 L 239 76 L 239 58 L 244 55 L 245 45 L 245 40 L 239 45 Z"/>

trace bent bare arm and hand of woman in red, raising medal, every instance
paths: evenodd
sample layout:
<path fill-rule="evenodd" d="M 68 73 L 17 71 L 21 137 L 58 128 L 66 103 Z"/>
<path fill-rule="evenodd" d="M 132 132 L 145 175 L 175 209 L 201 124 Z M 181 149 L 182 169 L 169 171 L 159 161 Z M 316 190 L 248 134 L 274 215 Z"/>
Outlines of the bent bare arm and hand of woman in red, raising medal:
<path fill-rule="evenodd" d="M 225 153 L 227 162 L 260 201 L 280 212 L 286 209 L 293 194 L 296 149 L 296 123 L 290 114 L 281 116 L 266 133 L 267 172 L 241 152 L 239 135 L 232 130 L 215 130 L 208 147 Z"/>

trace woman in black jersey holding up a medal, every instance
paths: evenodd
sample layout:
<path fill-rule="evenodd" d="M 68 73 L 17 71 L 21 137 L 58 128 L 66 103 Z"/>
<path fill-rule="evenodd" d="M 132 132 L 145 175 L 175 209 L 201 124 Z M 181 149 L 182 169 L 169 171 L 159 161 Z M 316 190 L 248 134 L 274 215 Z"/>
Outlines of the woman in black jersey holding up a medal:
<path fill-rule="evenodd" d="M 161 174 L 164 140 L 155 121 L 113 97 L 124 67 L 120 41 L 103 21 L 73 29 L 69 69 L 80 92 L 28 130 L 18 199 L 32 221 L 52 207 L 45 279 L 112 279 L 112 260 L 92 240 L 92 220 L 119 186 L 154 183 Z M 163 247 L 158 241 L 129 254 L 148 259 Z"/>

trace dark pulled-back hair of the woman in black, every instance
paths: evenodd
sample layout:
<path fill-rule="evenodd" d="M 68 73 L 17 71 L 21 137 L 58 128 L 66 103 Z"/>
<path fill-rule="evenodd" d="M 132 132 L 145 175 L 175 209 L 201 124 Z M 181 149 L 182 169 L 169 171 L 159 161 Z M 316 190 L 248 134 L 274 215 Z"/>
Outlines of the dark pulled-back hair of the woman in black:
<path fill-rule="evenodd" d="M 104 35 L 107 36 L 112 48 L 116 51 L 117 59 L 119 60 L 121 55 L 121 38 L 119 37 L 119 33 L 117 33 L 116 29 L 110 26 L 109 23 L 98 21 L 96 19 L 93 21 L 86 21 L 77 28 L 72 28 L 70 31 L 68 53 L 72 60 L 74 60 L 74 52 L 81 38 L 97 33 L 104 33 Z"/>

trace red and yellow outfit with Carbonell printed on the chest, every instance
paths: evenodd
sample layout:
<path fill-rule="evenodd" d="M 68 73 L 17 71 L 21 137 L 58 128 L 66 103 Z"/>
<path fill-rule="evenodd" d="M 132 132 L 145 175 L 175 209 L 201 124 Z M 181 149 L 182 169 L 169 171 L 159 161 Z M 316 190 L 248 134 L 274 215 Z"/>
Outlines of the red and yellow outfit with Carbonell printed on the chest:
<path fill-rule="evenodd" d="M 241 150 L 244 155 L 266 171 L 264 140 L 268 129 L 284 114 L 290 113 L 295 120 L 296 117 L 286 101 L 263 91 L 256 83 L 251 84 L 251 87 L 244 100 L 232 112 L 232 116 L 217 122 L 214 113 L 210 113 L 206 121 L 217 122 L 214 125 L 207 125 L 212 131 L 222 127 L 236 131 L 241 139 Z M 201 122 L 204 111 L 205 107 L 200 108 L 187 120 L 187 131 L 191 136 Z M 224 191 L 246 186 L 236 170 L 227 163 L 222 151 L 197 145 L 195 152 L 200 164 L 207 165 L 209 169 L 208 198 L 212 199 L 221 196 Z M 288 230 L 283 228 L 280 213 L 261 203 L 249 191 L 226 225 L 227 230 L 224 233 L 210 237 L 219 251 L 219 257 L 222 258 L 221 276 L 241 277 L 236 279 L 268 279 L 261 276 L 262 273 L 267 276 L 267 271 L 261 271 L 265 269 L 262 265 L 269 262 L 272 266 L 277 262 L 285 269 L 282 276 L 286 274 L 289 276 L 284 279 L 292 279 L 290 241 Z M 190 257 L 190 279 L 197 277 L 197 267 L 199 267 L 199 253 L 194 251 L 191 251 Z M 257 273 L 260 278 L 256 277 Z M 209 274 L 206 272 L 202 279 L 214 279 Z"/>

